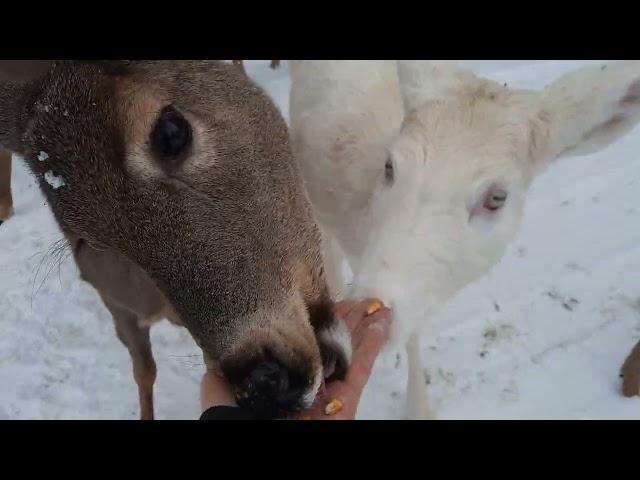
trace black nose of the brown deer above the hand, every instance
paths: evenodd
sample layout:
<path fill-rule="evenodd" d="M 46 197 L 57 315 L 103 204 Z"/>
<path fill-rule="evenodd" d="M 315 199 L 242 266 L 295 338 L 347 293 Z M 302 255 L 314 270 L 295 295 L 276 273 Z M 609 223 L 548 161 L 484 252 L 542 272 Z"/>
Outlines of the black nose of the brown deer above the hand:
<path fill-rule="evenodd" d="M 238 404 L 256 415 L 276 418 L 302 408 L 308 381 L 276 360 L 259 363 L 249 372 Z"/>

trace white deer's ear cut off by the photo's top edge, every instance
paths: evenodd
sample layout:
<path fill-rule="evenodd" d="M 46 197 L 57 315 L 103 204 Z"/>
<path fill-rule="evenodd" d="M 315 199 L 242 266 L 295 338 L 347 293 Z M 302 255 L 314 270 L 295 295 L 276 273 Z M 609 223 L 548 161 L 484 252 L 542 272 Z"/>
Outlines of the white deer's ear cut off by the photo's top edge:
<path fill-rule="evenodd" d="M 400 93 L 406 113 L 441 98 L 471 75 L 461 70 L 455 60 L 398 60 Z"/>

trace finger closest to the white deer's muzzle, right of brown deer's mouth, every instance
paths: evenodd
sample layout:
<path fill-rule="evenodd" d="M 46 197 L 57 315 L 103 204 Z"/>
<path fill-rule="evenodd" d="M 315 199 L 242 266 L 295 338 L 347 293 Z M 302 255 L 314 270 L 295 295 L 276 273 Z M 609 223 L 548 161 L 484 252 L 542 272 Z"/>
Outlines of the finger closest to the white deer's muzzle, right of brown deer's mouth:
<path fill-rule="evenodd" d="M 362 340 L 353 353 L 351 367 L 346 382 L 362 391 L 371 376 L 371 370 L 389 336 L 390 322 L 380 319 L 367 326 L 362 332 Z"/>

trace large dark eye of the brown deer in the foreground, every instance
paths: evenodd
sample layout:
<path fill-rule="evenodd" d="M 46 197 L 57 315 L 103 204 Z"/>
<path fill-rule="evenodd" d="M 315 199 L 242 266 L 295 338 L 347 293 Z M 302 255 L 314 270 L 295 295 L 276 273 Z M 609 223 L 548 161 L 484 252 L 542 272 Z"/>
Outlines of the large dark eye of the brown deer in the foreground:
<path fill-rule="evenodd" d="M 151 132 L 151 148 L 161 161 L 173 164 L 185 158 L 193 141 L 191 124 L 169 105 L 160 112 Z"/>

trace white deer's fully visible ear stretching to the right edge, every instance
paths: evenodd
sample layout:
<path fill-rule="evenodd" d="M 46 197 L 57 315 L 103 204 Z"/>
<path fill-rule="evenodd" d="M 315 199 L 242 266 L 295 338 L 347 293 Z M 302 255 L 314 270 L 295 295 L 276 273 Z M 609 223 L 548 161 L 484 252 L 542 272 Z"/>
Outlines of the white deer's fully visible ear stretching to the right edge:
<path fill-rule="evenodd" d="M 540 94 L 532 131 L 535 160 L 588 155 L 640 121 L 640 61 L 590 66 Z"/>

